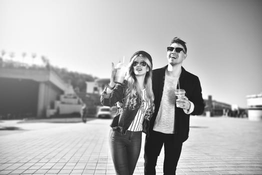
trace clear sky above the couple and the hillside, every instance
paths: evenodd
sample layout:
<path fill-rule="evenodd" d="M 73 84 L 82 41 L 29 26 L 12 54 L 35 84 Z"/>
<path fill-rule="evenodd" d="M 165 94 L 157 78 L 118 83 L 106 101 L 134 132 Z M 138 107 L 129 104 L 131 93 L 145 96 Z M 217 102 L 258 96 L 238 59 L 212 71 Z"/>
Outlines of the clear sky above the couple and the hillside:
<path fill-rule="evenodd" d="M 246 107 L 262 92 L 261 18 L 261 0 L 0 0 L 0 50 L 109 78 L 111 62 L 137 50 L 166 65 L 178 36 L 203 98 Z"/>

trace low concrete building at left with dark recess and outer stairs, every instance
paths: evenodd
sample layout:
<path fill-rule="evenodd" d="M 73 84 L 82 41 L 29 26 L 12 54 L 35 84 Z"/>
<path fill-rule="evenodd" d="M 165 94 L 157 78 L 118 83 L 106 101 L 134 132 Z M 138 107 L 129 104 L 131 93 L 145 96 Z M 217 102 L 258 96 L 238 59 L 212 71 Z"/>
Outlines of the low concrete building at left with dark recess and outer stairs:
<path fill-rule="evenodd" d="M 61 110 L 66 103 L 63 98 L 75 94 L 71 85 L 64 82 L 50 67 L 1 65 L 0 87 L 0 116 L 3 118 L 48 117 L 54 113 L 59 114 L 57 110 L 64 111 Z M 63 107 L 67 113 L 80 110 L 81 101 L 77 100 L 77 107 L 72 102 L 69 102 L 69 107 Z"/>

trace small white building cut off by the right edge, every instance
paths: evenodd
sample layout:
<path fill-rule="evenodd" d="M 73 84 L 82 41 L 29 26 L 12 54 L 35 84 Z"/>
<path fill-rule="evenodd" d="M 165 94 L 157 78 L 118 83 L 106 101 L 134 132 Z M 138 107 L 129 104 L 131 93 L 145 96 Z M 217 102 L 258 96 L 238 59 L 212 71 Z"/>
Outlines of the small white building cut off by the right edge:
<path fill-rule="evenodd" d="M 247 95 L 248 119 L 262 120 L 262 92 L 259 94 Z"/>

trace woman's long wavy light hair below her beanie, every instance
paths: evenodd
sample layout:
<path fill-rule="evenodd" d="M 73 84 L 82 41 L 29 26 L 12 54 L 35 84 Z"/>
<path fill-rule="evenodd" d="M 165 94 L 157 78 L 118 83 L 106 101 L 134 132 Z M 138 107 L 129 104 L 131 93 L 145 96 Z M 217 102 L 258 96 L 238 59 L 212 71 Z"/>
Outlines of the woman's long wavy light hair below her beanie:
<path fill-rule="evenodd" d="M 134 54 L 128 63 L 128 70 L 125 76 L 125 79 L 127 80 L 125 106 L 128 108 L 134 108 L 137 102 L 139 101 L 141 102 L 141 107 L 142 108 L 144 107 L 144 103 L 142 101 L 142 92 L 138 86 L 138 82 L 133 71 L 134 70 L 133 61 L 137 56 L 140 56 L 142 60 L 145 61 L 145 63 L 149 68 L 149 71 L 147 71 L 145 74 L 144 82 L 143 82 L 146 92 L 146 101 L 148 102 L 148 109 L 145 111 L 144 117 L 146 119 L 149 119 L 152 112 L 154 111 L 154 103 L 153 103 L 154 95 L 152 90 L 152 64 L 144 54 L 141 53 Z"/>

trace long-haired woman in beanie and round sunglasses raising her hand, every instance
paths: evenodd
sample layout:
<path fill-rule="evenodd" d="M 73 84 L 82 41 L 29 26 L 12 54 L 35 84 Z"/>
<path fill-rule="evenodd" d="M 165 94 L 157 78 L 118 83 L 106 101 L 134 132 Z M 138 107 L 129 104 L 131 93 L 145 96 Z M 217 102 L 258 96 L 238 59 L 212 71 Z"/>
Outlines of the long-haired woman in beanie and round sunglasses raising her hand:
<path fill-rule="evenodd" d="M 108 106 L 122 103 L 120 114 L 111 123 L 109 145 L 116 174 L 131 175 L 140 154 L 142 131 L 147 133 L 154 110 L 152 58 L 145 51 L 135 52 L 121 85 L 113 81 L 115 72 L 112 63 L 110 83 L 101 95 L 101 103 Z"/>

